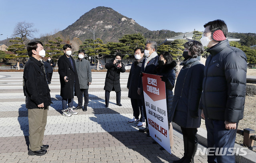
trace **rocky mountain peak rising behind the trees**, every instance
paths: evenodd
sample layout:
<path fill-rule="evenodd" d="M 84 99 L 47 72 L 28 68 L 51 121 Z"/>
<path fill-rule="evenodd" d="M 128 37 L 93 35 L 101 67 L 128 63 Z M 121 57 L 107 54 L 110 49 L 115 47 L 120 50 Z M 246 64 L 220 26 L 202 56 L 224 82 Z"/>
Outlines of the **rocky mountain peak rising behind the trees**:
<path fill-rule="evenodd" d="M 118 42 L 125 34 L 141 33 L 150 40 L 161 42 L 165 38 L 177 36 L 181 32 L 169 30 L 150 31 L 140 26 L 132 18 L 119 14 L 112 8 L 99 6 L 83 14 L 75 23 L 60 31 L 63 36 L 79 37 L 80 40 L 100 38 L 104 43 Z M 160 34 L 159 34 L 160 33 Z"/>

